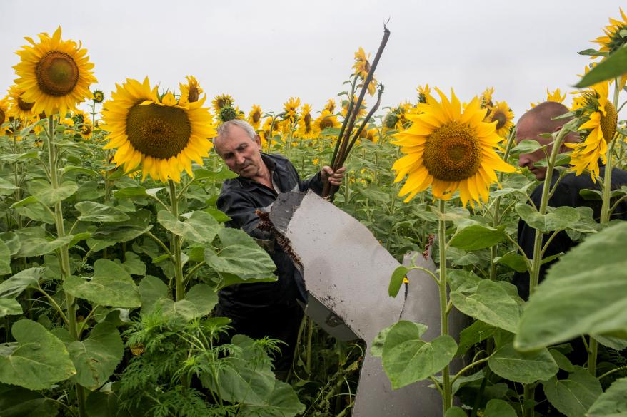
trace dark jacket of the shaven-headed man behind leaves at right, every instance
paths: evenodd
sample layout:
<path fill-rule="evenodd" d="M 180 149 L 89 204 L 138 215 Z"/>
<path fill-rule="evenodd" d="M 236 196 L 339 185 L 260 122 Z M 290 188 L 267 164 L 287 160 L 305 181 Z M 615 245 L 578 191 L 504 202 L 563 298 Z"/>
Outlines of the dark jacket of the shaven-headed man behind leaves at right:
<path fill-rule="evenodd" d="M 599 166 L 599 175 L 603 177 L 605 175 L 605 166 Z M 558 173 L 553 174 L 551 180 L 551 186 L 555 185 L 558 179 Z M 627 185 L 627 171 L 614 168 L 612 170 L 612 188 L 620 189 L 621 186 Z M 542 199 L 543 182 L 541 182 L 536 190 L 531 193 L 531 200 L 536 207 L 540 207 Z M 592 182 L 590 175 L 584 173 L 582 175 L 575 175 L 569 173 L 565 175 L 557 185 L 556 191 L 553 196 L 548 200 L 548 205 L 551 207 L 591 207 L 594 213 L 594 218 L 598 222 L 601 217 L 601 200 L 584 200 L 579 191 L 581 190 L 600 190 L 598 182 L 595 184 Z M 623 200 L 621 204 L 613 211 L 611 219 L 627 220 L 627 201 Z M 549 235 L 543 236 L 543 244 L 546 244 Z M 536 238 L 536 229 L 523 222 L 518 221 L 518 244 L 525 251 L 525 254 L 529 259 L 533 257 L 533 242 Z M 551 255 L 558 254 L 560 252 L 568 252 L 571 247 L 575 246 L 577 242 L 573 242 L 566 232 L 559 232 L 551 244 L 548 245 L 546 252 L 544 252 L 544 258 Z M 619 249 L 619 248 L 617 248 Z M 546 269 L 553 262 L 548 262 L 540 267 L 540 280 L 544 278 Z M 516 272 L 513 277 L 513 284 L 518 287 L 518 294 L 523 299 L 529 297 L 529 274 L 528 272 Z"/>

